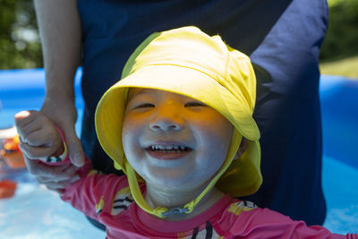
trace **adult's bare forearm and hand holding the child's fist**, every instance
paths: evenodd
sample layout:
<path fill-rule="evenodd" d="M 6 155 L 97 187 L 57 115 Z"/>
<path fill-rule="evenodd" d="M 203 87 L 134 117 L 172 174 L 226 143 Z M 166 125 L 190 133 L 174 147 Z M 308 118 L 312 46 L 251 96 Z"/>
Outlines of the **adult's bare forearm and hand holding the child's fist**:
<path fill-rule="evenodd" d="M 41 112 L 63 130 L 72 164 L 81 166 L 84 157 L 81 141 L 74 130 L 77 114 L 73 90 L 73 77 L 81 60 L 77 1 L 34 0 L 34 4 L 46 72 L 46 97 Z M 74 168 L 43 166 L 27 157 L 25 160 L 30 173 L 50 189 L 64 188 L 75 175 Z"/>

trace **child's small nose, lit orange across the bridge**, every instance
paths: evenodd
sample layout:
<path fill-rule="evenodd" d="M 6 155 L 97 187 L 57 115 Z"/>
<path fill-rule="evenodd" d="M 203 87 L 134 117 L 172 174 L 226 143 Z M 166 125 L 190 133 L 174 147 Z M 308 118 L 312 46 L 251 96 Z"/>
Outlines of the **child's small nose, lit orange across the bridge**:
<path fill-rule="evenodd" d="M 162 109 L 155 115 L 149 127 L 153 131 L 180 131 L 183 129 L 183 119 L 173 109 Z"/>

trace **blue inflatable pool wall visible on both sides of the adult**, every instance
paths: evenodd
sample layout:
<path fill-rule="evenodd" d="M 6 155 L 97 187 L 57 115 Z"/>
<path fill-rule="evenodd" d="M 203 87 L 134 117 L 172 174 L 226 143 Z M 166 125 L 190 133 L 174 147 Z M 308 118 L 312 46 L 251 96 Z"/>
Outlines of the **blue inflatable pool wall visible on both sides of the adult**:
<path fill-rule="evenodd" d="M 84 107 L 81 98 L 81 68 L 74 81 L 80 132 Z M 0 71 L 0 128 L 13 125 L 20 110 L 39 109 L 45 96 L 43 69 Z M 323 127 L 323 154 L 358 168 L 358 81 L 322 75 L 320 101 Z"/>

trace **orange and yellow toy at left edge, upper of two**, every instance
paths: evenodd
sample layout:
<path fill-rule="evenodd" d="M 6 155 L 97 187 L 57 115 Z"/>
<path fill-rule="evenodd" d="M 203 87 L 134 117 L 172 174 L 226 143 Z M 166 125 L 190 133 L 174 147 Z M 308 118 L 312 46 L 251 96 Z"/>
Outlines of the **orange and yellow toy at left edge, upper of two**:
<path fill-rule="evenodd" d="M 19 134 L 13 138 L 4 139 L 4 149 L 1 149 L 1 158 L 12 168 L 26 167 L 21 150 L 19 148 Z"/>

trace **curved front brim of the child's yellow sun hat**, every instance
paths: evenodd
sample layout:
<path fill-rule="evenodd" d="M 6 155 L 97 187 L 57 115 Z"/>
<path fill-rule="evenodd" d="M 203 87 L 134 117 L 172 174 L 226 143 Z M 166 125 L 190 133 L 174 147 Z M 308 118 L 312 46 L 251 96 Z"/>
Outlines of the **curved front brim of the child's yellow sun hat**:
<path fill-rule="evenodd" d="M 244 102 L 240 98 L 234 97 L 212 76 L 197 69 L 175 64 L 148 65 L 118 81 L 107 90 L 96 109 L 95 124 L 98 140 L 102 148 L 115 161 L 115 167 L 123 169 L 124 173 L 126 173 L 124 168 L 126 158 L 124 157 L 122 143 L 122 127 L 129 88 L 166 90 L 195 98 L 224 115 L 234 125 L 234 129 L 249 141 L 258 142 L 260 138 L 257 124 L 253 120 L 250 110 L 245 107 Z M 255 182 L 261 182 L 261 179 L 258 180 L 257 178 L 257 175 L 260 175 L 260 145 L 257 143 L 251 145 L 253 147 L 251 151 L 254 153 L 250 155 L 254 158 L 247 158 L 245 162 L 247 165 L 251 165 L 249 167 L 252 170 L 259 173 L 253 174 L 256 177 L 255 179 L 252 178 L 252 175 L 245 174 L 248 176 L 245 181 L 252 183 L 253 179 Z M 255 162 L 251 163 L 251 160 Z M 252 170 L 250 171 L 252 172 Z M 223 176 L 227 178 L 225 175 Z M 255 184 L 260 185 L 260 183 Z M 244 189 L 243 191 L 251 192 L 258 188 L 254 186 L 255 189 L 253 189 L 251 185 L 248 186 L 251 189 Z M 241 194 L 240 196 L 242 196 L 242 193 L 234 194 Z"/>

